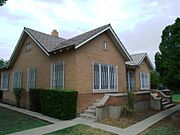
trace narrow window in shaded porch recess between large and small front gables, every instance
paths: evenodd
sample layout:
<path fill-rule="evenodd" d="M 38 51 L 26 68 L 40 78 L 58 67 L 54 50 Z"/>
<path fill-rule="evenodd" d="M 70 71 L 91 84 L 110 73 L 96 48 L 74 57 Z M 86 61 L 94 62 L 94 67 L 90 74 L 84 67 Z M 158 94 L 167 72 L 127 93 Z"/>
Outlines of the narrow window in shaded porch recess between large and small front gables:
<path fill-rule="evenodd" d="M 127 88 L 128 90 L 135 90 L 135 73 L 134 71 L 127 71 Z"/>

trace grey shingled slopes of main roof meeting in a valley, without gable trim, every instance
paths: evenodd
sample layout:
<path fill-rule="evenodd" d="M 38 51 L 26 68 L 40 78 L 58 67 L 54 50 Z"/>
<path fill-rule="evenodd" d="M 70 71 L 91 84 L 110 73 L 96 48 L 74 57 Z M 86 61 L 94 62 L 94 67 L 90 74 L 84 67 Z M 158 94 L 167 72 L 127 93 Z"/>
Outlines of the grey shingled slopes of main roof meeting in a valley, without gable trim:
<path fill-rule="evenodd" d="M 90 39 L 94 35 L 98 34 L 99 32 L 103 31 L 104 29 L 108 28 L 110 24 L 101 26 L 99 28 L 93 29 L 81 35 L 75 36 L 70 39 L 64 39 L 60 37 L 55 37 L 49 34 L 45 34 L 36 30 L 32 30 L 30 28 L 24 28 L 47 52 L 53 52 L 58 49 L 66 48 L 68 46 L 74 46 L 85 42 L 86 40 Z"/>

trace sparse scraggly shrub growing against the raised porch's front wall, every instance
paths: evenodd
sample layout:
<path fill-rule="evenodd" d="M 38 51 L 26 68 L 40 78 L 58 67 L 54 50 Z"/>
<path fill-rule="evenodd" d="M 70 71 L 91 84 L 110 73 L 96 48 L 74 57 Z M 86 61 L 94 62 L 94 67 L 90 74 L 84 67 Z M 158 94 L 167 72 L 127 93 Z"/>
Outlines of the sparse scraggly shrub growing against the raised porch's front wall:
<path fill-rule="evenodd" d="M 134 92 L 128 91 L 127 92 L 127 103 L 123 105 L 121 115 L 122 116 L 129 116 L 134 112 Z"/>

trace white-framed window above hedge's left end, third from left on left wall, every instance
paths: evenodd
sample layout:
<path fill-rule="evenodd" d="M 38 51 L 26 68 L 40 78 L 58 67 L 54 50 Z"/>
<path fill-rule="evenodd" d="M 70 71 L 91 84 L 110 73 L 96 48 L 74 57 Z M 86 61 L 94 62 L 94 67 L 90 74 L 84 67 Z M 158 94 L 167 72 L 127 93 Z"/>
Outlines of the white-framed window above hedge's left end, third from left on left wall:
<path fill-rule="evenodd" d="M 29 78 L 31 70 L 34 73 L 33 78 Z M 30 79 L 33 79 L 33 80 L 30 80 Z M 33 84 L 34 87 L 30 87 L 31 83 L 34 83 Z M 31 88 L 36 88 L 36 68 L 28 68 L 28 70 L 27 70 L 27 91 L 29 91 L 29 89 L 31 89 Z"/>

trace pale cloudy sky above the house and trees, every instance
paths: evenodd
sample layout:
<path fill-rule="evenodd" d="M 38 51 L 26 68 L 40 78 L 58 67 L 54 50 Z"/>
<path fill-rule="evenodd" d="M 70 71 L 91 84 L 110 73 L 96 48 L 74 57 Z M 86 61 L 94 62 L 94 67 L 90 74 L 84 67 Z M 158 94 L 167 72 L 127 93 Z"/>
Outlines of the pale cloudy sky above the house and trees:
<path fill-rule="evenodd" d="M 130 54 L 154 63 L 162 30 L 180 17 L 180 0 L 8 0 L 0 7 L 0 59 L 8 60 L 24 27 L 71 38 L 111 24 Z"/>

